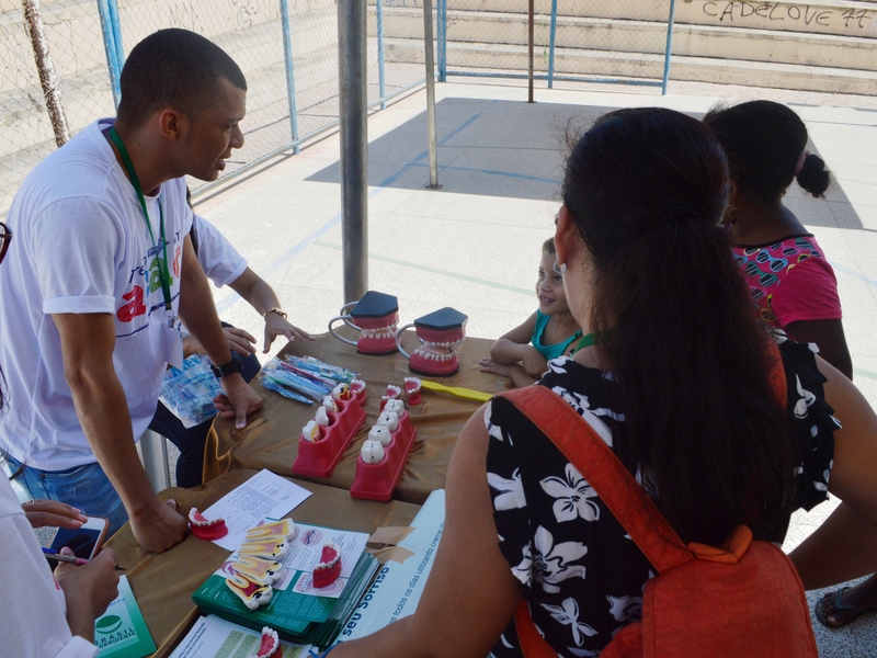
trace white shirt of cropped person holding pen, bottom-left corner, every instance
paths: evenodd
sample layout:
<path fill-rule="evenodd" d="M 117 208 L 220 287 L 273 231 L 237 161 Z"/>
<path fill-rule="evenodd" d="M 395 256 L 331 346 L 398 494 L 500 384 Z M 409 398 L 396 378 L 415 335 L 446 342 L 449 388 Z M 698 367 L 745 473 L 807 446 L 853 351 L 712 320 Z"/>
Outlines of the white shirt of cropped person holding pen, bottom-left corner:
<path fill-rule="evenodd" d="M 94 658 L 98 647 L 72 635 L 64 591 L 0 469 L 0 647 L 3 656 Z"/>

